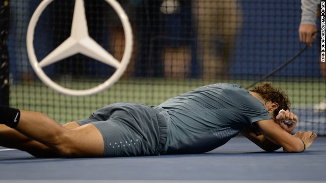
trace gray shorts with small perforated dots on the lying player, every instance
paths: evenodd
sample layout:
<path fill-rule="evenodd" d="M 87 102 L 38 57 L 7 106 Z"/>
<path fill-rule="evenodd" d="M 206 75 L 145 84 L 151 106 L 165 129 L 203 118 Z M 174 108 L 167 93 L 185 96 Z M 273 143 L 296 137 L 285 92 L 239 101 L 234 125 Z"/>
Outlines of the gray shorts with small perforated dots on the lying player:
<path fill-rule="evenodd" d="M 115 103 L 93 112 L 79 125 L 92 123 L 104 139 L 104 157 L 151 156 L 165 153 L 167 120 L 159 107 Z"/>

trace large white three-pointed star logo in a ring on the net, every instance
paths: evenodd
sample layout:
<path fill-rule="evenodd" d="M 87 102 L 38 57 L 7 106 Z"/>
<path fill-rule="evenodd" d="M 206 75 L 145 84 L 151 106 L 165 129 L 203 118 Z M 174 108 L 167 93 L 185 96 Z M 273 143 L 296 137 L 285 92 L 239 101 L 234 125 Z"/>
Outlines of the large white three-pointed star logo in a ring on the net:
<path fill-rule="evenodd" d="M 57 90 L 58 92 L 71 96 L 88 96 L 101 92 L 113 85 L 122 76 L 125 71 L 132 51 L 132 31 L 128 20 L 128 17 L 124 10 L 121 8 L 120 4 L 115 0 L 105 0 L 110 4 L 113 9 L 118 13 L 118 16 L 122 22 L 125 35 L 125 50 L 121 62 L 117 60 L 114 56 L 108 53 L 102 46 L 100 46 L 95 40 L 93 40 L 88 33 L 88 25 L 85 14 L 84 0 L 75 0 L 75 7 L 73 13 L 73 20 L 71 26 L 71 34 L 68 39 L 66 39 L 62 44 L 60 44 L 55 50 L 50 52 L 45 56 L 40 62 L 38 62 L 35 50 L 34 50 L 34 31 L 37 21 L 44 11 L 44 9 L 53 0 L 44 0 L 35 10 L 26 36 L 27 52 L 30 59 L 30 63 L 38 75 L 38 77 L 49 87 Z M 99 84 L 98 86 L 85 90 L 74 90 L 65 88 L 56 82 L 52 81 L 43 71 L 43 67 L 51 65 L 53 63 L 59 62 L 60 60 L 72 56 L 74 54 L 84 54 L 88 57 L 94 58 L 99 62 L 116 68 L 115 73 L 108 78 L 105 82 Z"/>

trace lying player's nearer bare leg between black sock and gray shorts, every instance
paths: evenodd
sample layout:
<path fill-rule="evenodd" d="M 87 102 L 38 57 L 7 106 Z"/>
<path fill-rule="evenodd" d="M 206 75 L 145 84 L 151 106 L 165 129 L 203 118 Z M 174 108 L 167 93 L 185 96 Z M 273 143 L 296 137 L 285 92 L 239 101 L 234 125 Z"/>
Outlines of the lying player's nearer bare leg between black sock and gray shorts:
<path fill-rule="evenodd" d="M 59 156 L 101 157 L 103 155 L 102 135 L 92 124 L 68 129 L 45 114 L 24 110 L 20 111 L 18 122 L 16 131 L 50 147 Z"/>

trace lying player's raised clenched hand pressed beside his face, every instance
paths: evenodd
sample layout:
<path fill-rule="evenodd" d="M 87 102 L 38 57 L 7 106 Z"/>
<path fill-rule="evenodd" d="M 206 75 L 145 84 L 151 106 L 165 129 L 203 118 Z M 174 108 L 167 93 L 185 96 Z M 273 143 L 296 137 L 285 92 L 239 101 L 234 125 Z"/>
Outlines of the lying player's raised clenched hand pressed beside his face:
<path fill-rule="evenodd" d="M 290 121 L 292 121 L 292 123 Z M 291 133 L 296 127 L 297 115 L 289 110 L 282 111 L 276 116 L 276 123 L 279 124 L 287 133 Z"/>

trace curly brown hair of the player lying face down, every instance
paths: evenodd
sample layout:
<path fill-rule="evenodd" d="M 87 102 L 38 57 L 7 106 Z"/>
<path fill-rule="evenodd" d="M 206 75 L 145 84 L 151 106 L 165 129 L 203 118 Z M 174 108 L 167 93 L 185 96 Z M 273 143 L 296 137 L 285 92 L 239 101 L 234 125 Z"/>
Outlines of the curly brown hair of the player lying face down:
<path fill-rule="evenodd" d="M 274 117 L 279 114 L 281 109 L 289 110 L 291 102 L 288 96 L 280 88 L 275 88 L 270 82 L 266 82 L 255 86 L 250 92 L 255 92 L 266 102 L 276 102 L 279 104 L 279 108 L 274 111 Z"/>

